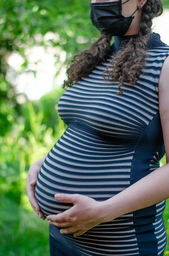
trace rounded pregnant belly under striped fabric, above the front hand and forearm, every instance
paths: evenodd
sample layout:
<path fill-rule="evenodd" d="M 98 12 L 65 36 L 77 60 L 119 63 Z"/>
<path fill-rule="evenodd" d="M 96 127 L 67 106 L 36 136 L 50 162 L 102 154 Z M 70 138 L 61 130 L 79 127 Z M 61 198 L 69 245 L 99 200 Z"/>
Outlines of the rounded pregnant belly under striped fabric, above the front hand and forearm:
<path fill-rule="evenodd" d="M 105 201 L 129 186 L 131 156 L 124 163 L 115 145 L 94 135 L 90 140 L 82 140 L 81 136 L 69 140 L 71 130 L 68 128 L 49 151 L 37 177 L 35 198 L 45 216 L 73 206 L 57 201 L 56 193 L 77 193 Z"/>

